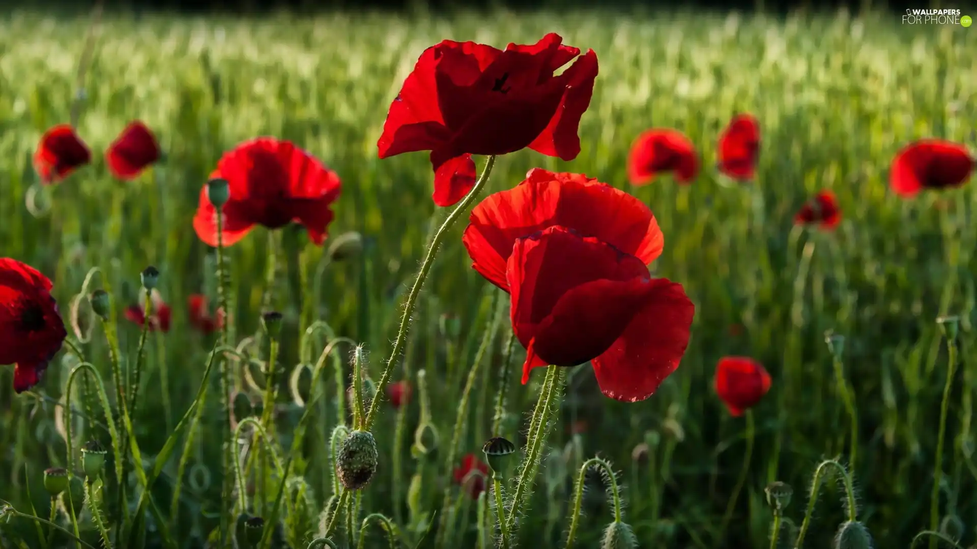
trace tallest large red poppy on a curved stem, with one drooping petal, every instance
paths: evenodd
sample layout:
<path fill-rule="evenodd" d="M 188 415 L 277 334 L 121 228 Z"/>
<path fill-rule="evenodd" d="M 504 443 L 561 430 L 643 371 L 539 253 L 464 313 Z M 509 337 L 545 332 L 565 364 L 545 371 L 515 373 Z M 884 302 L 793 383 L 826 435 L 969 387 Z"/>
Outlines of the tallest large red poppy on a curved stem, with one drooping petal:
<path fill-rule="evenodd" d="M 475 183 L 470 154 L 505 154 L 531 148 L 573 160 L 577 129 L 590 105 L 597 55 L 579 56 L 550 33 L 532 45 L 505 51 L 474 42 L 445 40 L 424 50 L 390 106 L 380 158 L 431 151 L 439 206 L 461 199 Z M 446 166 L 447 165 L 447 166 Z"/>

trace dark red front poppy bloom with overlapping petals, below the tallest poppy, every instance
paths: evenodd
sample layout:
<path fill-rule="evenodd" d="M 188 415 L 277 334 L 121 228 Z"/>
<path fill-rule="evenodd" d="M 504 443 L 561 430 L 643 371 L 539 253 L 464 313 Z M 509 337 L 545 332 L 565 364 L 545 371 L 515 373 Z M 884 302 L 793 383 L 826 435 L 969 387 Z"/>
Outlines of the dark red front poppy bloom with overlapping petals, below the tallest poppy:
<path fill-rule="evenodd" d="M 689 344 L 695 306 L 682 285 L 599 238 L 559 226 L 519 238 L 506 277 L 524 384 L 534 367 L 591 361 L 604 395 L 643 401 Z"/>

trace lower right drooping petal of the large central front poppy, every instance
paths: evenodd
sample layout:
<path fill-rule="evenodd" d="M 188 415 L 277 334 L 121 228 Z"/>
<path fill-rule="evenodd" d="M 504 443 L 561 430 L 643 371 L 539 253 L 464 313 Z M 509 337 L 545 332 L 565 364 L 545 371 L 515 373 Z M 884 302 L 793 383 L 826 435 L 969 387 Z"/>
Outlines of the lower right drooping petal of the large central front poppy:
<path fill-rule="evenodd" d="M 601 392 L 616 401 L 644 401 L 674 372 L 689 346 L 696 307 L 681 284 L 653 278 L 641 310 L 600 357 L 593 359 Z"/>

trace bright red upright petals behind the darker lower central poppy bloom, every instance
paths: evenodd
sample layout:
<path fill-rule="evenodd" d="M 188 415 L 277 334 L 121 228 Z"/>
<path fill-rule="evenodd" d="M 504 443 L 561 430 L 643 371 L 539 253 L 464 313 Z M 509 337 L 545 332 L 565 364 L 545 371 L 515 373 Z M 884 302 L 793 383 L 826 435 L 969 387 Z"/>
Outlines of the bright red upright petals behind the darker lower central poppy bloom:
<path fill-rule="evenodd" d="M 562 226 L 596 236 L 651 264 L 664 246 L 658 221 L 641 200 L 581 174 L 533 168 L 514 189 L 489 195 L 472 210 L 462 242 L 472 267 L 509 291 L 506 264 L 517 238 Z"/>

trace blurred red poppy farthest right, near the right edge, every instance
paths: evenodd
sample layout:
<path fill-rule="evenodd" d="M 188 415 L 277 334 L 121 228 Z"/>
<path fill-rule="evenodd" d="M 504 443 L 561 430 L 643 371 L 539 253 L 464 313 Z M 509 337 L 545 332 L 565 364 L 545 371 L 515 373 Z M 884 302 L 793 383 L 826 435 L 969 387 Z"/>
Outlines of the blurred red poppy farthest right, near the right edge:
<path fill-rule="evenodd" d="M 889 186 L 900 196 L 912 198 L 924 189 L 961 187 L 973 169 L 974 158 L 962 145 L 938 139 L 919 140 L 896 154 L 889 170 Z"/>

